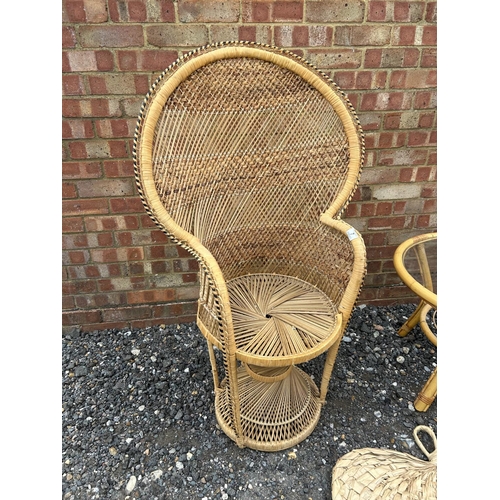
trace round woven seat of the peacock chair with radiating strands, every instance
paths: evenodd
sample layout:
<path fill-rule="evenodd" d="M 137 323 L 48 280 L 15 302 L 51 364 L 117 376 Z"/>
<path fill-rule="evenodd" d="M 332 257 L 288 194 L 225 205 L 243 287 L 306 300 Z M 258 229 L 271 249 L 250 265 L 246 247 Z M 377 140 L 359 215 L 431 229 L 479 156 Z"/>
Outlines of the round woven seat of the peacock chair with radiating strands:
<path fill-rule="evenodd" d="M 249 274 L 227 283 L 238 359 L 261 366 L 307 361 L 340 331 L 337 310 L 318 288 L 280 274 Z"/>

